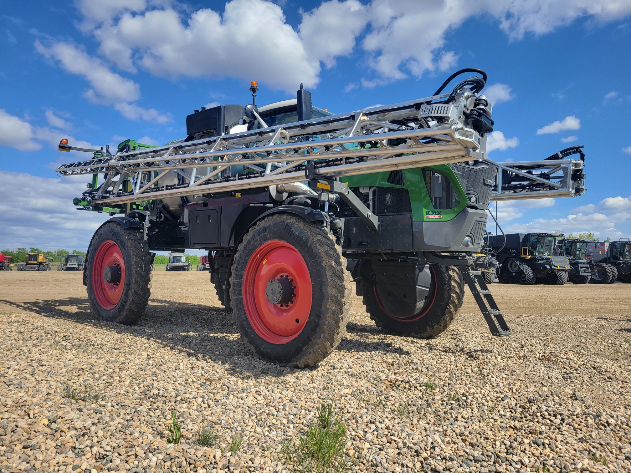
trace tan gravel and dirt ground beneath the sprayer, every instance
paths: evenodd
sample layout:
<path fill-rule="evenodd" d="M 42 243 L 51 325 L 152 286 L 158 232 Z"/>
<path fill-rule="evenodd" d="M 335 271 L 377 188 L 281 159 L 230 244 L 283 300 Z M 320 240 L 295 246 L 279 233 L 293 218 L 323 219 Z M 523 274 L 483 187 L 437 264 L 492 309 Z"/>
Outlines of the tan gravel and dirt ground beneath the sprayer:
<path fill-rule="evenodd" d="M 125 327 L 95 320 L 80 273 L 0 272 L 0 471 L 282 471 L 322 402 L 353 470 L 630 471 L 631 288 L 492 289 L 511 337 L 490 336 L 470 295 L 432 340 L 381 334 L 354 297 L 338 349 L 293 370 L 245 354 L 206 273 L 156 273 Z M 203 425 L 215 448 L 195 445 Z"/>

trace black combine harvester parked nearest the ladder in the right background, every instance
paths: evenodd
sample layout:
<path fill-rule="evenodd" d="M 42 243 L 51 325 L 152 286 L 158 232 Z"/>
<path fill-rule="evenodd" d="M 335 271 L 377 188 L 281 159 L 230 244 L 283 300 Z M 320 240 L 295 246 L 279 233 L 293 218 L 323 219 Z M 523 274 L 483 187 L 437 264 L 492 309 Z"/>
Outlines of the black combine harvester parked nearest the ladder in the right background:
<path fill-rule="evenodd" d="M 509 233 L 488 236 L 488 247 L 501 265 L 499 280 L 509 284 L 565 284 L 570 262 L 556 248 L 556 233 Z"/>

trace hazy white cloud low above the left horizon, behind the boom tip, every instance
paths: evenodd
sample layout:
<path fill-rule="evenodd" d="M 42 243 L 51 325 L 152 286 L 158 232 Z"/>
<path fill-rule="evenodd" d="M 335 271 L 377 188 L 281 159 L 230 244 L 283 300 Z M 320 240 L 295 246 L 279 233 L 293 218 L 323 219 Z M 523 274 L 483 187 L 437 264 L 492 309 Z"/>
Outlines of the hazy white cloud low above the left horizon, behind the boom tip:
<path fill-rule="evenodd" d="M 82 176 L 85 182 L 90 177 Z M 0 241 L 5 248 L 82 249 L 108 214 L 73 206 L 85 182 L 0 170 Z M 33 198 L 37 196 L 37 198 Z"/>

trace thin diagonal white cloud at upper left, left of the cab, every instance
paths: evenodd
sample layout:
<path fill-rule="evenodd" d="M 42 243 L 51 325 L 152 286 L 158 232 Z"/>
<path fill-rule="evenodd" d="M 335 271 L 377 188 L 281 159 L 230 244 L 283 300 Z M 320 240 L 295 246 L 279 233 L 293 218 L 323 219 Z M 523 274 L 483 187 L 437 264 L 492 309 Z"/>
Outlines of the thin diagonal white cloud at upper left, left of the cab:
<path fill-rule="evenodd" d="M 92 57 L 74 45 L 54 42 L 45 47 L 39 41 L 35 49 L 48 59 L 54 59 L 68 73 L 82 76 L 91 85 L 83 96 L 92 103 L 112 105 L 130 120 L 148 120 L 165 123 L 172 119 L 171 114 L 160 114 L 155 108 L 141 108 L 130 102 L 140 98 L 140 86 L 131 79 L 126 79 L 110 71 L 103 61 Z"/>

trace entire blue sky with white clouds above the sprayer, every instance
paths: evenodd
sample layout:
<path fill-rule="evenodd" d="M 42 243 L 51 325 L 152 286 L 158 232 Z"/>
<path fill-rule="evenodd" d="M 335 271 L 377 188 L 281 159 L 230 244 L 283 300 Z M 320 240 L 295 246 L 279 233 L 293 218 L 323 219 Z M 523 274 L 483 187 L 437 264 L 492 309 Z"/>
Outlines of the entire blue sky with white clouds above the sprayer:
<path fill-rule="evenodd" d="M 503 202 L 505 230 L 631 237 L 630 51 L 631 0 L 5 2 L 0 247 L 85 248 L 107 218 L 74 209 L 86 178 L 56 178 L 85 158 L 61 137 L 163 144 L 195 108 L 249 103 L 251 80 L 259 105 L 302 82 L 346 112 L 430 95 L 461 67 L 488 73 L 493 160 L 585 145 L 586 194 Z"/>

